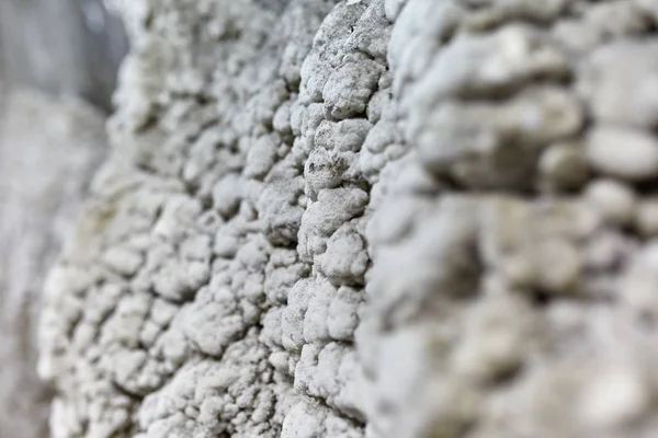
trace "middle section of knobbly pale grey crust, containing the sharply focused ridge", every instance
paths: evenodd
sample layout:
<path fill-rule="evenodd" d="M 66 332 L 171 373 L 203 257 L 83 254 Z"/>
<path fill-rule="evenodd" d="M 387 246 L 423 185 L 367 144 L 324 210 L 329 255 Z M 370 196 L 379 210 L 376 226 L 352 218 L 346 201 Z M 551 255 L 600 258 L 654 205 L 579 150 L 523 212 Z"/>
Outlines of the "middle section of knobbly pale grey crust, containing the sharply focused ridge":
<path fill-rule="evenodd" d="M 45 290 L 53 436 L 363 436 L 366 207 L 402 151 L 383 2 L 122 13 L 111 157 Z"/>

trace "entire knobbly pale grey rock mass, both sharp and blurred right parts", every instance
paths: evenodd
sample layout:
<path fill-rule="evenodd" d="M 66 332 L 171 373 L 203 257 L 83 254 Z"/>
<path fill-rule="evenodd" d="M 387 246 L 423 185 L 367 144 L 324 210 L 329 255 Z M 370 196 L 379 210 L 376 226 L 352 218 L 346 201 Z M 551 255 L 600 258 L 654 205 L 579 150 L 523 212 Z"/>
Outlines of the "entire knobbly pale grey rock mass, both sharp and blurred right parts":
<path fill-rule="evenodd" d="M 53 436 L 656 436 L 656 4 L 124 2 Z"/>

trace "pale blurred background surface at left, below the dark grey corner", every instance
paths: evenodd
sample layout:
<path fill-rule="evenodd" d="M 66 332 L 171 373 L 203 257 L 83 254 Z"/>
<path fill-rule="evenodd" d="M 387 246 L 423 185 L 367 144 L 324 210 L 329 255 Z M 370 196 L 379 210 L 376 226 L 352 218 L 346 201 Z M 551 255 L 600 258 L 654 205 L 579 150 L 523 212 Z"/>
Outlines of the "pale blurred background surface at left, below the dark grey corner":
<path fill-rule="evenodd" d="M 104 117 L 78 101 L 25 91 L 0 93 L 3 438 L 47 436 L 53 393 L 35 370 L 41 290 L 104 152 L 103 124 Z"/>

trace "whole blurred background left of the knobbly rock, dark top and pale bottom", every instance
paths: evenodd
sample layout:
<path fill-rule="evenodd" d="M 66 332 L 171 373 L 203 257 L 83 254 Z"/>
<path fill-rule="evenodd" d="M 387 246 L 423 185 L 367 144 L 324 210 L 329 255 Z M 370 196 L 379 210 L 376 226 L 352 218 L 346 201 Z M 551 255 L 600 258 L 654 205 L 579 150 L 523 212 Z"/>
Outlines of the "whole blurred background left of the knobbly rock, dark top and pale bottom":
<path fill-rule="evenodd" d="M 44 277 L 105 151 L 127 50 L 102 0 L 0 0 L 0 438 L 45 438 Z"/>

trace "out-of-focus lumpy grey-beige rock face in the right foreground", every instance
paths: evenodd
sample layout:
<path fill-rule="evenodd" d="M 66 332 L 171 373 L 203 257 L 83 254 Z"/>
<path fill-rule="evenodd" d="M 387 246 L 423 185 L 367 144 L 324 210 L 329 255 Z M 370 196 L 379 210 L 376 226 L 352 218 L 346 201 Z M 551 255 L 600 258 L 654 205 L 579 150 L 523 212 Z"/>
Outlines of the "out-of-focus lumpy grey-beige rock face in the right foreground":
<path fill-rule="evenodd" d="M 359 333 L 373 436 L 656 436 L 657 20 L 406 2 L 388 59 L 411 152 L 378 183 Z"/>

